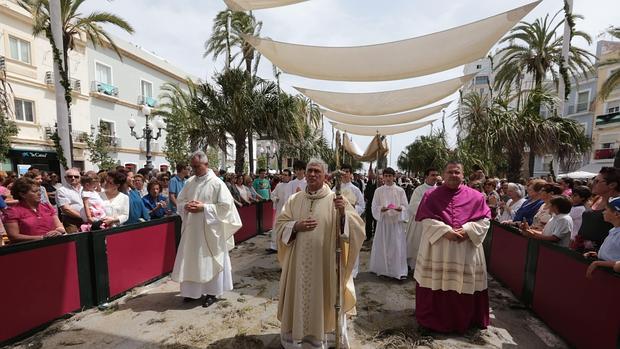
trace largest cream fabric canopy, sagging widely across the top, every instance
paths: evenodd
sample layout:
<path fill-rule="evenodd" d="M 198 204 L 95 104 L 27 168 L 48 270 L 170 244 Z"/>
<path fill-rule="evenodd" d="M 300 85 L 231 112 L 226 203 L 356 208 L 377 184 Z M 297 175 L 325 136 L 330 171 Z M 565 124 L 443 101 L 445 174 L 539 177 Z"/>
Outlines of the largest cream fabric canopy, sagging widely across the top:
<path fill-rule="evenodd" d="M 356 47 L 320 47 L 244 36 L 284 72 L 338 81 L 387 81 L 433 74 L 486 56 L 539 1 L 480 21 L 412 39 Z"/>

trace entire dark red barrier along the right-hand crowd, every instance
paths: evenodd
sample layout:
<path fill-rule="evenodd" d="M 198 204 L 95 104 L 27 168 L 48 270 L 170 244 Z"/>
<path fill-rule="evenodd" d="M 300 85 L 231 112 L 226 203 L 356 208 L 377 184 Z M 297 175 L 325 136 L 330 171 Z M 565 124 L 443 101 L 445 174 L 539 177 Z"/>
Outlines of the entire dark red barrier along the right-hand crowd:
<path fill-rule="evenodd" d="M 620 274 L 599 268 L 587 279 L 580 253 L 497 222 L 484 247 L 491 275 L 572 347 L 620 348 Z"/>

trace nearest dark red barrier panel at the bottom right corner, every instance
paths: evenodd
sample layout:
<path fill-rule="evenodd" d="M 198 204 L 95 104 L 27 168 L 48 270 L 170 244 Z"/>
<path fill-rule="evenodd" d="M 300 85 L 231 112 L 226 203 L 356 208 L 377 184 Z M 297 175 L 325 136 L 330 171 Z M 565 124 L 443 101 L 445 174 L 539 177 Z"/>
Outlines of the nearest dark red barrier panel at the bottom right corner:
<path fill-rule="evenodd" d="M 495 239 L 495 236 L 493 237 Z M 540 244 L 532 307 L 576 348 L 615 348 L 620 334 L 620 277 Z"/>

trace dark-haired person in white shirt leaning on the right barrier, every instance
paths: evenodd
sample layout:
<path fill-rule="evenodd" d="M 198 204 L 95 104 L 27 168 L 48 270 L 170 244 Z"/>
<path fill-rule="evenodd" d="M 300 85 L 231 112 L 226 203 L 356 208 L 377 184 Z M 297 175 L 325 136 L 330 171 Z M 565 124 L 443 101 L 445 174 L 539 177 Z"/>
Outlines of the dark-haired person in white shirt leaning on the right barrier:
<path fill-rule="evenodd" d="M 567 197 L 554 196 L 549 201 L 549 212 L 552 216 L 542 232 L 530 228 L 527 222 L 521 223 L 521 232 L 532 239 L 557 242 L 560 246 L 568 247 L 573 231 L 573 220 L 569 216 L 572 206 Z"/>

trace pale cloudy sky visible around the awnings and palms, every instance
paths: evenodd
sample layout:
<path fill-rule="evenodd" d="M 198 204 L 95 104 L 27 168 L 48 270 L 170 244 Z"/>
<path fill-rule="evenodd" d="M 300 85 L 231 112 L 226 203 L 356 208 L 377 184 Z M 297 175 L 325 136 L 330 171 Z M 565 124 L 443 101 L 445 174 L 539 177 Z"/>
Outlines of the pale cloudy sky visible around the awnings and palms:
<path fill-rule="evenodd" d="M 263 22 L 261 36 L 276 41 L 316 46 L 357 46 L 408 39 L 449 29 L 530 3 L 530 0 L 309 0 L 296 5 L 254 11 Z M 618 23 L 620 1 L 574 0 L 574 13 L 584 20 L 577 28 L 590 34 L 594 41 L 605 39 L 605 30 Z M 553 16 L 563 7 L 563 0 L 543 0 L 525 21 L 531 22 L 547 14 Z M 204 43 L 211 35 L 215 15 L 226 7 L 221 0 L 91 0 L 83 4 L 83 13 L 113 12 L 135 29 L 133 35 L 113 27 L 111 33 L 152 51 L 181 70 L 210 80 L 223 69 L 223 59 L 204 58 Z M 596 44 L 583 41 L 573 45 L 595 52 Z M 494 49 L 492 49 L 493 51 Z M 462 75 L 463 67 L 423 77 L 387 82 L 338 82 L 306 79 L 282 74 L 282 88 L 297 93 L 292 86 L 342 92 L 373 92 L 426 85 Z M 273 79 L 271 63 L 261 59 L 259 76 Z M 454 94 L 433 105 L 456 101 Z M 446 110 L 446 129 L 452 145 L 456 131 L 449 117 L 453 102 Z M 441 123 L 434 123 L 438 127 Z M 324 133 L 331 139 L 331 126 L 325 122 Z M 388 165 L 396 167 L 401 151 L 416 137 L 426 135 L 430 127 L 388 137 Z M 354 142 L 365 149 L 371 137 L 354 136 Z"/>

